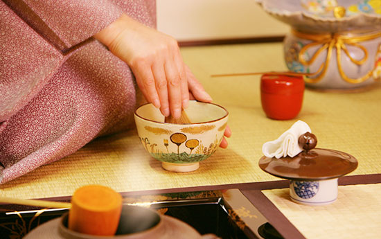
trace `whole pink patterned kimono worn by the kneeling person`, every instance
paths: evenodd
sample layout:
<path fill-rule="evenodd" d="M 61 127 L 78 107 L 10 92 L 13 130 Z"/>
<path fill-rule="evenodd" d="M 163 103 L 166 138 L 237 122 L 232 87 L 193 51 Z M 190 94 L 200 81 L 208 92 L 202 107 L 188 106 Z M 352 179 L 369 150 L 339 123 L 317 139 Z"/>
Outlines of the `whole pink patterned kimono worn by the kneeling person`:
<path fill-rule="evenodd" d="M 154 1 L 0 1 L 0 184 L 133 125 L 136 83 L 91 36 Z"/>

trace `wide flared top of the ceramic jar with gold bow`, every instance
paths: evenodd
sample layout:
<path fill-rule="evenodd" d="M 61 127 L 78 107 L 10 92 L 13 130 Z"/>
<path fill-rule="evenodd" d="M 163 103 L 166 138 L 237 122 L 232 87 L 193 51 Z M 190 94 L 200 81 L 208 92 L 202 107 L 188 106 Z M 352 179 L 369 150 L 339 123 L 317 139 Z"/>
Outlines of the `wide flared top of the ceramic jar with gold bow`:
<path fill-rule="evenodd" d="M 359 0 L 256 0 L 265 12 L 308 33 L 339 33 L 381 29 L 379 6 Z M 344 10 L 339 18 L 337 7 Z"/>

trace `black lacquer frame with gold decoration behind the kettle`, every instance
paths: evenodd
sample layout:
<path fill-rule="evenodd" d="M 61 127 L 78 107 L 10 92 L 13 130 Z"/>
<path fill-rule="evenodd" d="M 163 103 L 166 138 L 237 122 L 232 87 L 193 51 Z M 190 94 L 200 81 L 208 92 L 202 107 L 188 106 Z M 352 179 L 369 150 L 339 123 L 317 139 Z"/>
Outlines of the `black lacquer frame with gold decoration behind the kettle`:
<path fill-rule="evenodd" d="M 233 193 L 240 192 L 237 190 Z M 231 202 L 234 198 L 236 196 L 229 195 Z M 239 200 L 233 203 L 240 206 L 236 210 L 233 209 L 221 191 L 143 195 L 123 197 L 123 200 L 125 204 L 149 206 L 158 213 L 182 220 L 201 234 L 214 233 L 223 239 L 262 238 L 257 232 L 260 225 L 254 228 L 248 227 L 238 213 L 254 219 L 258 216 L 242 206 Z M 58 218 L 68 211 L 68 209 L 37 209 L 17 205 L 0 205 L 0 210 L 0 239 L 21 239 L 40 224 Z"/>

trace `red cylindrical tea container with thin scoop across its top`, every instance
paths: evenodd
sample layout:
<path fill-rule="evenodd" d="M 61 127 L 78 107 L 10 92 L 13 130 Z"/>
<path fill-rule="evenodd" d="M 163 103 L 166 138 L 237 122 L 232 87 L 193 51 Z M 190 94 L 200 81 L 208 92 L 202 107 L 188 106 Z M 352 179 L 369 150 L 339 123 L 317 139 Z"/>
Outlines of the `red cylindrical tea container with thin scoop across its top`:
<path fill-rule="evenodd" d="M 303 76 L 263 75 L 260 78 L 260 99 L 269 118 L 295 118 L 303 103 Z"/>

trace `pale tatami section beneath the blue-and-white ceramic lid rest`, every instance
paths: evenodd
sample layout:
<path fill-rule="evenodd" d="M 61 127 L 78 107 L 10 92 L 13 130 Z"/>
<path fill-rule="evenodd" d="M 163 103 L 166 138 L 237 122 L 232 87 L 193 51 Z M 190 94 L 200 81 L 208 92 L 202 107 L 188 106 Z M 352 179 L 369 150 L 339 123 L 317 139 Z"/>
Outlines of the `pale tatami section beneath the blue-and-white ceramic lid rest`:
<path fill-rule="evenodd" d="M 262 191 L 305 238 L 380 238 L 381 184 L 339 186 L 336 202 L 305 206 L 288 188 Z"/>

